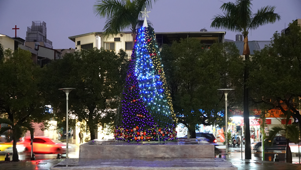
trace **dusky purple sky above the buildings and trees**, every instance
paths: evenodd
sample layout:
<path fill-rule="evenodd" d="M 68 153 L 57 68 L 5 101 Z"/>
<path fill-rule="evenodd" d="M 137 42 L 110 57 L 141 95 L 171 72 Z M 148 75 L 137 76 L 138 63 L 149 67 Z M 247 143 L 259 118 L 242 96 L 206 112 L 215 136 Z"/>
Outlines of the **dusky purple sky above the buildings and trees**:
<path fill-rule="evenodd" d="M 234 0 L 159 0 L 148 10 L 148 20 L 153 23 L 155 32 L 198 32 L 226 31 L 226 39 L 235 40 L 237 33 L 223 29 L 210 28 L 213 16 L 221 14 L 223 2 Z M 44 21 L 47 24 L 47 39 L 52 41 L 54 49 L 74 48 L 70 36 L 90 32 L 102 32 L 106 19 L 100 19 L 93 13 L 95 0 L 0 0 L 0 34 L 26 38 L 27 27 L 32 21 Z M 268 41 L 275 31 L 287 28 L 292 20 L 301 18 L 300 0 L 254 0 L 253 13 L 264 6 L 275 6 L 275 13 L 281 20 L 274 24 L 259 27 L 249 33 L 249 41 Z M 124 31 L 129 31 L 124 30 Z"/>

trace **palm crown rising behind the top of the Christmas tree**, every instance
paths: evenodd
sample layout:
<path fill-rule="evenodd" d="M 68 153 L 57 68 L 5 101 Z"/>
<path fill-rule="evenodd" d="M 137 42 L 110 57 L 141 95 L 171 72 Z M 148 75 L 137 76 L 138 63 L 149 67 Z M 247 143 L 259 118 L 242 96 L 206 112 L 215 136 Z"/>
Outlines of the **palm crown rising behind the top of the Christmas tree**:
<path fill-rule="evenodd" d="M 121 30 L 130 28 L 133 44 L 136 39 L 136 27 L 141 23 L 138 18 L 144 8 L 152 8 L 157 0 L 102 0 L 97 1 L 93 11 L 100 18 L 107 18 L 104 35 L 116 35 Z"/>

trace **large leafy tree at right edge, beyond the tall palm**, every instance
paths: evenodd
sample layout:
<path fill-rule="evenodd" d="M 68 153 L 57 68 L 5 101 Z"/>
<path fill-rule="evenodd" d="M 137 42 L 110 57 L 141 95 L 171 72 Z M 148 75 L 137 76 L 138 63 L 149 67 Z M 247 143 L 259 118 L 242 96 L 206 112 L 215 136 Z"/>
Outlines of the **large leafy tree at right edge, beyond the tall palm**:
<path fill-rule="evenodd" d="M 285 34 L 276 32 L 272 45 L 252 58 L 249 86 L 254 102 L 266 110 L 280 109 L 283 116 L 292 116 L 301 127 L 301 28 L 289 24 Z"/>

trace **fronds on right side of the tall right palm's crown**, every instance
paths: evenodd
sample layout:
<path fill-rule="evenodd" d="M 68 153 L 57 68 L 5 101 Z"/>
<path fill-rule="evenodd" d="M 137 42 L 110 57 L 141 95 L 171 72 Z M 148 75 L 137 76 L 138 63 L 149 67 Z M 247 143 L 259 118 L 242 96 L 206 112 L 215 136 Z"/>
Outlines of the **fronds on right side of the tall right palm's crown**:
<path fill-rule="evenodd" d="M 277 20 L 279 21 L 281 17 L 274 13 L 276 7 L 274 6 L 266 6 L 262 7 L 254 14 L 252 22 L 250 23 L 249 29 L 254 30 L 259 26 L 266 25 L 268 23 L 275 23 Z"/>

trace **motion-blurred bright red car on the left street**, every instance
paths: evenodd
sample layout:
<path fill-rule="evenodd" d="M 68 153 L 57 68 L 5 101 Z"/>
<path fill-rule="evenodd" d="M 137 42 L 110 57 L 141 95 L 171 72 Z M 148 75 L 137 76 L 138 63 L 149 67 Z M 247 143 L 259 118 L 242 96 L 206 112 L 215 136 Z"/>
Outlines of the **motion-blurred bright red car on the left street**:
<path fill-rule="evenodd" d="M 31 152 L 31 139 L 25 138 L 23 142 L 18 142 L 17 146 L 23 146 L 25 152 Z M 19 150 L 18 150 L 19 151 Z M 36 154 L 54 154 L 54 153 L 66 153 L 66 144 L 55 143 L 49 137 L 35 136 L 33 139 L 33 152 Z"/>

